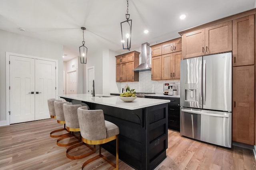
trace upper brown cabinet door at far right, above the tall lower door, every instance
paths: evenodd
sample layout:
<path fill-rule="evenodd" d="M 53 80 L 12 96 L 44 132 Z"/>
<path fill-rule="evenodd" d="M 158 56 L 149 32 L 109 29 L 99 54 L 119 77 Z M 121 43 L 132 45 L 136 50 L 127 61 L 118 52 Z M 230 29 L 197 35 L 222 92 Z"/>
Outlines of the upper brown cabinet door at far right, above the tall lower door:
<path fill-rule="evenodd" d="M 254 15 L 233 20 L 233 66 L 254 64 Z"/>

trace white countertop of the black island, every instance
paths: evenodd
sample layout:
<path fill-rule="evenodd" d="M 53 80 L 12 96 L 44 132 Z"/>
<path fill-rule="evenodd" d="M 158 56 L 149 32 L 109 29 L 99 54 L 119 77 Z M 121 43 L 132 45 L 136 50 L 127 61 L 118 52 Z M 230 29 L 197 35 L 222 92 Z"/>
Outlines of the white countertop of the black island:
<path fill-rule="evenodd" d="M 97 97 L 97 96 L 110 96 L 110 95 L 100 95 L 96 94 L 95 97 L 92 97 L 91 94 L 63 94 L 59 97 L 70 98 L 75 100 L 80 100 L 84 102 L 91 102 L 96 104 L 102 104 L 106 106 L 119 107 L 123 109 L 135 110 L 141 109 L 144 107 L 156 106 L 159 104 L 169 103 L 170 100 L 162 99 L 150 99 L 150 98 L 136 98 L 133 102 L 124 102 L 119 96 L 111 97 Z"/>

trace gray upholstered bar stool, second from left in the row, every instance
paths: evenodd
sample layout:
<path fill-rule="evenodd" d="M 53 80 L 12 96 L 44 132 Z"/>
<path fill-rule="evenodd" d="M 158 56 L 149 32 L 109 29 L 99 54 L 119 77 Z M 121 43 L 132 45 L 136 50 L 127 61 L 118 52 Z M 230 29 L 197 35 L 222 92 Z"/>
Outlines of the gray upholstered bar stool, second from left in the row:
<path fill-rule="evenodd" d="M 56 100 L 53 102 L 54 103 L 54 109 L 55 109 L 55 113 L 56 113 L 56 119 L 57 119 L 57 123 L 61 123 L 64 124 L 64 130 L 68 131 L 68 129 L 66 129 L 66 122 L 65 122 L 65 118 L 64 118 L 64 112 L 63 112 L 63 104 L 68 103 L 68 102 L 62 102 L 62 100 Z M 60 147 L 67 147 L 70 145 L 74 145 L 76 143 L 78 143 L 78 141 L 75 142 L 71 142 L 71 143 L 59 143 L 59 141 L 61 141 L 62 139 L 65 139 L 67 137 L 71 137 L 73 136 L 70 131 L 68 131 L 68 133 L 64 134 L 62 137 L 60 137 L 57 140 L 57 145 Z"/>

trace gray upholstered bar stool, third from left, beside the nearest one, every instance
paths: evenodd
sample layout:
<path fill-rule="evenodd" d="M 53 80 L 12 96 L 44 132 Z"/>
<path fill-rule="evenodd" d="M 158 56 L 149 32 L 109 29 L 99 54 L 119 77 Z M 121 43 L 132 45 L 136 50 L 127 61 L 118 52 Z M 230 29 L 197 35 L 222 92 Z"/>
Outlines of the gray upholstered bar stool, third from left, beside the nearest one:
<path fill-rule="evenodd" d="M 78 115 L 77 115 L 77 109 L 79 107 L 81 107 L 82 105 L 80 104 L 76 104 L 76 105 L 72 105 L 72 103 L 64 103 L 63 104 L 63 111 L 64 111 L 64 117 L 65 117 L 65 123 L 66 123 L 66 128 L 68 131 L 72 132 L 72 136 L 74 136 L 76 139 L 78 139 L 78 142 L 76 145 L 72 145 L 71 147 L 69 147 L 66 151 L 66 156 L 70 159 L 81 159 L 84 158 L 86 156 L 89 156 L 90 154 L 94 154 L 96 147 L 94 145 L 94 147 L 92 148 L 90 145 L 85 144 L 89 149 L 91 149 L 91 152 L 82 154 L 82 155 L 70 155 L 68 154 L 68 152 L 76 147 L 82 146 L 84 145 L 84 143 L 81 140 L 81 135 L 78 138 L 76 135 L 74 135 L 74 132 L 80 132 L 80 127 L 79 127 L 79 122 L 78 122 Z M 88 107 L 85 106 L 85 108 L 87 109 Z M 69 136 L 68 136 L 69 137 Z M 63 139 L 66 137 L 62 137 Z"/>

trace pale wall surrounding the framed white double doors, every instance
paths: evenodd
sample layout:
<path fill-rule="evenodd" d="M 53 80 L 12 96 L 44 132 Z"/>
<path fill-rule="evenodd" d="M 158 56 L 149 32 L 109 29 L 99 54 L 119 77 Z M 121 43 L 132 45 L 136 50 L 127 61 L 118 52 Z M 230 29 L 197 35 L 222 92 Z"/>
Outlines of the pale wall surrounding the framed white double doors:
<path fill-rule="evenodd" d="M 58 60 L 58 94 L 63 94 L 63 45 L 0 30 L 0 121 L 6 121 L 6 51 Z"/>

